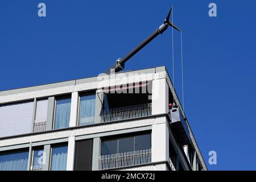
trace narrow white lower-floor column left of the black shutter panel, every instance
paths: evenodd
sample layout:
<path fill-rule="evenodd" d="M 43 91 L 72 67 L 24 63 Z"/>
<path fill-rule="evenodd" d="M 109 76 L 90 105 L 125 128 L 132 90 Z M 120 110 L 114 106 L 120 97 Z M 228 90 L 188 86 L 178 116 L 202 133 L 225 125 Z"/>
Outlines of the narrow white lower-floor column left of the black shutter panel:
<path fill-rule="evenodd" d="M 68 138 L 67 171 L 73 171 L 75 160 L 75 137 Z"/>

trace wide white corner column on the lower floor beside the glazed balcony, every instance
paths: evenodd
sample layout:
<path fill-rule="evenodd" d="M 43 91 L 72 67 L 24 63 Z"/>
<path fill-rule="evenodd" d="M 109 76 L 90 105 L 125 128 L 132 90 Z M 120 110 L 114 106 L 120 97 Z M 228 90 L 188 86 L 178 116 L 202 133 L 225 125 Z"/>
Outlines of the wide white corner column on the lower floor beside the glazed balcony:
<path fill-rule="evenodd" d="M 152 126 L 152 162 L 169 160 L 169 131 L 166 123 Z"/>

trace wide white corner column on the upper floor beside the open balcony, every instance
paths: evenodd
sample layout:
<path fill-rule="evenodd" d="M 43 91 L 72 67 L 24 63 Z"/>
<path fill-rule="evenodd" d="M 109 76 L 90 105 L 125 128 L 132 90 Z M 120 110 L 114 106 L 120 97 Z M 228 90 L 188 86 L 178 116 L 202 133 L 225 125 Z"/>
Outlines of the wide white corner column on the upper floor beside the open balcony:
<path fill-rule="evenodd" d="M 168 113 L 168 84 L 165 78 L 152 81 L 152 115 Z"/>

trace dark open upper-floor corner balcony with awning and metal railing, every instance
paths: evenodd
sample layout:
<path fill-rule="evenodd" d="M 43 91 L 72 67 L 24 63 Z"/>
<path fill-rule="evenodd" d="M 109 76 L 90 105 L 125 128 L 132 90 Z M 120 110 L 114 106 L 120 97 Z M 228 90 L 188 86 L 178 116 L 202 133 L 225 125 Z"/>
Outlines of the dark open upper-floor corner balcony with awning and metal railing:
<path fill-rule="evenodd" d="M 102 90 L 101 122 L 118 121 L 151 115 L 151 83 L 116 85 Z"/>

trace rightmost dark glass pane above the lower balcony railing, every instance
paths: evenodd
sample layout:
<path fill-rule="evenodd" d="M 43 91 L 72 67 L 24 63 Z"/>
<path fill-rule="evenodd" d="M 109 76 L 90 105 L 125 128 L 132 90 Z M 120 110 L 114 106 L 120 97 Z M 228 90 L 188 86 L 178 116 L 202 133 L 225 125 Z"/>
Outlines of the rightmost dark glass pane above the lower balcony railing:
<path fill-rule="evenodd" d="M 151 134 L 135 136 L 135 151 L 151 148 Z"/>

